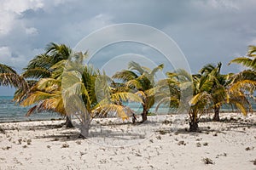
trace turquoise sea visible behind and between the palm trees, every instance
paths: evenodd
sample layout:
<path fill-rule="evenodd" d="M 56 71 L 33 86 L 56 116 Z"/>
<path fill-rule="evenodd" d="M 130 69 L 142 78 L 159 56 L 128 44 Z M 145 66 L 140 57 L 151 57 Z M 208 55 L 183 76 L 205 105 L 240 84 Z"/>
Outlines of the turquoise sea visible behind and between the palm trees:
<path fill-rule="evenodd" d="M 38 120 L 53 120 L 53 119 L 61 119 L 58 113 L 55 112 L 40 112 L 32 114 L 32 116 L 25 116 L 26 112 L 30 109 L 30 107 L 22 107 L 20 105 L 16 105 L 14 101 L 12 101 L 12 96 L 0 96 L 0 122 L 23 122 L 23 121 L 38 121 Z M 125 104 L 129 106 L 133 111 L 136 112 L 137 115 L 143 112 L 143 108 L 140 104 L 129 103 Z M 255 103 L 253 104 L 253 111 L 256 110 Z M 228 106 L 223 106 L 221 111 L 236 111 Z M 170 109 L 166 106 L 161 106 L 157 114 L 167 114 L 167 113 L 175 113 L 175 109 Z M 149 114 L 155 113 L 155 106 L 153 106 L 149 110 Z"/>

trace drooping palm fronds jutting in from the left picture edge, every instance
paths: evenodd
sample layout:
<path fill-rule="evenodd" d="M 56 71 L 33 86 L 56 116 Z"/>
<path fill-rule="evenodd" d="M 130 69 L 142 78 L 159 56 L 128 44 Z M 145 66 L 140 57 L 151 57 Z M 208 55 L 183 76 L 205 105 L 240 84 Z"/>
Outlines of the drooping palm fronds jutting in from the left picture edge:
<path fill-rule="evenodd" d="M 0 86 L 26 89 L 26 80 L 21 77 L 13 68 L 0 64 Z"/>

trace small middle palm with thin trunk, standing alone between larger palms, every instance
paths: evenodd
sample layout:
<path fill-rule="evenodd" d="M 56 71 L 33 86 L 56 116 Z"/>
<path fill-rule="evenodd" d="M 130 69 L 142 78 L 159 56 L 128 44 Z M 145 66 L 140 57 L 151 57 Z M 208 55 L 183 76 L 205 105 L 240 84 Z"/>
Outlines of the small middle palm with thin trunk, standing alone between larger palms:
<path fill-rule="evenodd" d="M 114 79 L 119 79 L 125 83 L 126 88 L 135 91 L 143 99 L 143 121 L 147 121 L 148 110 L 154 105 L 154 77 L 157 71 L 162 70 L 164 65 L 158 65 L 153 70 L 143 67 L 131 61 L 129 70 L 118 71 L 113 75 Z"/>

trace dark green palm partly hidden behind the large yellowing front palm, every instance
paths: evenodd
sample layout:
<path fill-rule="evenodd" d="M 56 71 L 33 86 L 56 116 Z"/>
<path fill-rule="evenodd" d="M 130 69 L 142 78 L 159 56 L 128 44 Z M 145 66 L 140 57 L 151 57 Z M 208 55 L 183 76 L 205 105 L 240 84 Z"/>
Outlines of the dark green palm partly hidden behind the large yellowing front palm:
<path fill-rule="evenodd" d="M 40 91 L 41 89 L 38 89 L 37 82 L 41 78 L 61 78 L 64 65 L 72 53 L 72 49 L 68 48 L 65 44 L 50 42 L 45 50 L 46 52 L 44 54 L 37 55 L 24 69 L 25 71 L 22 76 L 27 79 L 29 90 L 22 90 L 18 88 L 15 92 L 15 100 L 17 102 L 20 103 L 22 100 L 26 99 L 29 94 Z M 43 111 L 43 107 L 40 107 L 40 105 L 38 105 L 38 107 L 34 106 L 26 115 L 30 116 L 34 111 Z M 58 112 L 58 110 L 51 111 Z M 65 112 L 62 111 L 59 113 L 62 116 L 65 116 Z M 71 117 L 66 116 L 65 125 L 66 127 L 73 127 Z"/>

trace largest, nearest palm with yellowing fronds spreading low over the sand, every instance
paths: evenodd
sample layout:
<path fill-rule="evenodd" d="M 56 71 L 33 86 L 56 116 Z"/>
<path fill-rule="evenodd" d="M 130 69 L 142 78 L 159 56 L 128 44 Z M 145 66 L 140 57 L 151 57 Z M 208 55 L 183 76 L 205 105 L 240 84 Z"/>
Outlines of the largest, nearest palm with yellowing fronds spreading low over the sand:
<path fill-rule="evenodd" d="M 113 89 L 105 81 L 106 76 L 101 77 L 100 71 L 94 69 L 92 65 L 81 65 L 81 58 L 85 55 L 73 54 L 71 59 L 67 60 L 61 77 L 42 78 L 36 83 L 34 87 L 36 90 L 21 102 L 21 105 L 25 106 L 37 104 L 28 111 L 27 115 L 33 111 L 56 111 L 63 115 L 76 116 L 81 123 L 82 138 L 88 137 L 90 121 L 96 113 L 114 112 L 123 119 L 129 117 L 127 108 L 118 105 L 120 101 L 131 99 L 142 102 L 142 99 L 130 93 L 108 94 L 107 92 Z M 100 87 L 96 87 L 96 84 Z M 104 95 L 108 94 L 104 98 L 101 98 L 102 92 L 99 91 L 102 89 Z"/>

